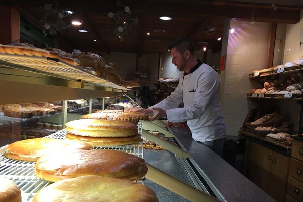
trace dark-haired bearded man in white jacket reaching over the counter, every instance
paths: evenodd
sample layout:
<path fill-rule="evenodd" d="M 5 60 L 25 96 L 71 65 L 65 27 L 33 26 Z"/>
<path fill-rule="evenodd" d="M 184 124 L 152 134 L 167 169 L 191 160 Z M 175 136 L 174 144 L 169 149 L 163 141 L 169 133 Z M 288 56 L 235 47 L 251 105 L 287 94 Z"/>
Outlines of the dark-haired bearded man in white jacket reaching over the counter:
<path fill-rule="evenodd" d="M 155 113 L 150 121 L 165 116 L 170 122 L 187 121 L 192 138 L 222 156 L 226 127 L 219 100 L 220 78 L 212 67 L 196 59 L 192 45 L 185 38 L 174 40 L 168 47 L 172 63 L 184 74 L 169 97 L 136 111 Z M 178 108 L 182 101 L 184 107 Z"/>

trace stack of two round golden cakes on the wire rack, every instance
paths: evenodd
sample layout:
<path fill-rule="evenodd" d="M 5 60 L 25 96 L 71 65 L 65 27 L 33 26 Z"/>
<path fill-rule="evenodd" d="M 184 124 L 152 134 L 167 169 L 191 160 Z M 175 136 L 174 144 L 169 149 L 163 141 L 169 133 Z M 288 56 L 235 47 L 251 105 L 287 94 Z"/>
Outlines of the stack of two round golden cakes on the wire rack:
<path fill-rule="evenodd" d="M 138 127 L 126 121 L 80 119 L 65 124 L 66 139 L 92 146 L 119 146 L 142 141 Z"/>

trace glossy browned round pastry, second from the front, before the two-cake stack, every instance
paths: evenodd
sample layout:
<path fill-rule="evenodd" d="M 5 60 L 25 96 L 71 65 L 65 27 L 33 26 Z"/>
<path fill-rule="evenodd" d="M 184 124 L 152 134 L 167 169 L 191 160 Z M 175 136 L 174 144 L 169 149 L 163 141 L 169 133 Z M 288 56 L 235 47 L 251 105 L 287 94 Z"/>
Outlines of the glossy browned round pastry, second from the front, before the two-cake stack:
<path fill-rule="evenodd" d="M 144 162 L 122 151 L 79 149 L 41 157 L 35 164 L 35 174 L 51 182 L 84 175 L 135 180 L 147 173 Z"/>

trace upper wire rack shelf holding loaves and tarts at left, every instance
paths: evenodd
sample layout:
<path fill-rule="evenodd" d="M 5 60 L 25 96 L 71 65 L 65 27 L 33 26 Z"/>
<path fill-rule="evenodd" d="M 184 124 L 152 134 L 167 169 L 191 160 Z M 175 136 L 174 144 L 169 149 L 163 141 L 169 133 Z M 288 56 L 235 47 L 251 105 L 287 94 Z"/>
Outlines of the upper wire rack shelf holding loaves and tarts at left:
<path fill-rule="evenodd" d="M 16 54 L 0 54 L 0 65 L 15 69 L 40 73 L 69 80 L 83 80 L 97 86 L 119 90 L 129 90 L 100 78 L 80 66 L 70 65 L 57 58 L 26 56 Z"/>

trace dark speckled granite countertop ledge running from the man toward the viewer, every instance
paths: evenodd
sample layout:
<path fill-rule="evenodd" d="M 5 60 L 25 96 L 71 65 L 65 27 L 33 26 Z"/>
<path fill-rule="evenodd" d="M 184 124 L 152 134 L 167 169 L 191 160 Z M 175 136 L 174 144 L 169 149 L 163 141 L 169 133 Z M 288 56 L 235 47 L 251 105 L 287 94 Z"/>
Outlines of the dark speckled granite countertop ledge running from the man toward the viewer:
<path fill-rule="evenodd" d="M 189 153 L 190 161 L 219 200 L 275 201 L 209 147 L 194 141 L 188 128 L 170 129 L 177 143 Z"/>

